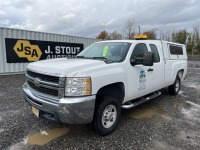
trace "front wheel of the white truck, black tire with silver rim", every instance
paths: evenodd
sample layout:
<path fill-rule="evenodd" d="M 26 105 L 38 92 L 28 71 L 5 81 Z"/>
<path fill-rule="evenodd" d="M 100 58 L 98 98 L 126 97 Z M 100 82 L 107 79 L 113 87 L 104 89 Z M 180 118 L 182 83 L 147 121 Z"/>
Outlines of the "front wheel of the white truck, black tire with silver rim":
<path fill-rule="evenodd" d="M 96 107 L 93 128 L 97 134 L 105 136 L 116 128 L 121 114 L 121 104 L 112 97 L 103 97 L 101 100 Z"/>

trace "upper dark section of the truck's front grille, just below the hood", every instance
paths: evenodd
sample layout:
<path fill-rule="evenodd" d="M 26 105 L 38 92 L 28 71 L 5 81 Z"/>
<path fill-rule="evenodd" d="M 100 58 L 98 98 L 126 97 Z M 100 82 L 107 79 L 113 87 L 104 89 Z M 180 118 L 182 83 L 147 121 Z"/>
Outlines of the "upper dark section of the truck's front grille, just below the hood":
<path fill-rule="evenodd" d="M 32 78 L 39 78 L 40 80 L 45 81 L 45 82 L 59 84 L 59 77 L 44 75 L 44 74 L 29 71 L 29 70 L 27 70 L 27 74 Z"/>

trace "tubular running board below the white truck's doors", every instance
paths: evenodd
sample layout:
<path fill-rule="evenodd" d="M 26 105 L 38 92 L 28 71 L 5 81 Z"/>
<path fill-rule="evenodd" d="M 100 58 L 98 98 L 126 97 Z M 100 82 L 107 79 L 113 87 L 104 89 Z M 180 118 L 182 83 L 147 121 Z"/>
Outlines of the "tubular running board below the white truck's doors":
<path fill-rule="evenodd" d="M 142 103 L 144 103 L 144 102 L 146 102 L 146 101 L 148 101 L 148 100 L 150 100 L 150 99 L 153 99 L 153 98 L 155 98 L 155 97 L 158 97 L 158 96 L 160 96 L 161 95 L 161 92 L 160 91 L 157 91 L 157 92 L 154 92 L 152 95 L 150 95 L 150 96 L 148 96 L 148 97 L 142 97 L 141 98 L 141 100 L 138 100 L 138 101 L 136 101 L 136 102 L 131 102 L 131 101 L 129 101 L 128 103 L 129 104 L 124 104 L 124 105 L 122 105 L 122 108 L 124 108 L 124 109 L 130 109 L 130 108 L 133 108 L 133 107 L 135 107 L 135 106 L 137 106 L 137 105 L 140 105 L 140 104 L 142 104 Z"/>

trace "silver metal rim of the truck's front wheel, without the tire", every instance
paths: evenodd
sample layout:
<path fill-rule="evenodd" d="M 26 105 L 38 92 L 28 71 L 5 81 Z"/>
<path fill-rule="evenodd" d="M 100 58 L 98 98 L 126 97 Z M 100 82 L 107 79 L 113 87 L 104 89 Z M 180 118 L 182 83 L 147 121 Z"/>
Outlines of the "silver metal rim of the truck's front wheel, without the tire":
<path fill-rule="evenodd" d="M 108 105 L 102 115 L 102 125 L 104 128 L 110 128 L 116 121 L 117 109 L 114 105 Z"/>

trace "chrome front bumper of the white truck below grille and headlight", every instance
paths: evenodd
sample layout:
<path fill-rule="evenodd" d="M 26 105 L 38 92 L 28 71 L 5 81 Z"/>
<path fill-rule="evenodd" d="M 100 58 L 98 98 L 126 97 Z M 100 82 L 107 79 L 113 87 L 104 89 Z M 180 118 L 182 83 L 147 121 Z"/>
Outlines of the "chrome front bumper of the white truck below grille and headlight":
<path fill-rule="evenodd" d="M 29 86 L 23 85 L 24 98 L 40 110 L 40 116 L 69 124 L 86 124 L 92 122 L 96 96 L 61 98 L 50 101 L 33 94 Z"/>

